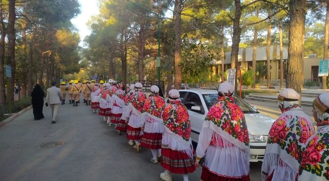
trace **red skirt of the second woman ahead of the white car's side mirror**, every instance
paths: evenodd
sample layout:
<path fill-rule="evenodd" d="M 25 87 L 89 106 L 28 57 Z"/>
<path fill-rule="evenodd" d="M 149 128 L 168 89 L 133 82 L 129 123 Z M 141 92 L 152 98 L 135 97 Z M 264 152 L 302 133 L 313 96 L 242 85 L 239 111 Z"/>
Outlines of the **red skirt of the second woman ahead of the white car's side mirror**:
<path fill-rule="evenodd" d="M 145 133 L 141 137 L 141 146 L 149 149 L 161 149 L 162 133 Z"/>

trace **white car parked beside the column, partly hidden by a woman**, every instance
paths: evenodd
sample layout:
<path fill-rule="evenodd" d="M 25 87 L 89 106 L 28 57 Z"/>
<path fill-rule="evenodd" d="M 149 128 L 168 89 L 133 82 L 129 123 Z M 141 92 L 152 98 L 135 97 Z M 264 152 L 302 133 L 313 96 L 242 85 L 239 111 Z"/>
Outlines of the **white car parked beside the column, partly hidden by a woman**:
<path fill-rule="evenodd" d="M 217 103 L 218 92 L 215 90 L 189 89 L 179 90 L 179 93 L 180 99 L 187 107 L 190 115 L 192 141 L 198 142 L 203 121 L 208 110 Z M 264 159 L 267 137 L 275 120 L 259 113 L 257 109 L 236 95 L 234 95 L 234 100 L 246 117 L 250 139 L 250 162 L 262 161 Z"/>

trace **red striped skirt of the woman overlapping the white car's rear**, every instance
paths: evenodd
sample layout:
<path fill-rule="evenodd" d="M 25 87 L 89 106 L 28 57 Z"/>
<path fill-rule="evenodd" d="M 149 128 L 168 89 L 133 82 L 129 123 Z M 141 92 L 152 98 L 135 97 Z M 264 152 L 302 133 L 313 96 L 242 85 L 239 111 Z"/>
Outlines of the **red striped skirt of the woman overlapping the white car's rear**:
<path fill-rule="evenodd" d="M 174 174 L 193 173 L 196 170 L 195 154 L 190 158 L 184 152 L 163 148 L 161 155 L 161 166 Z"/>

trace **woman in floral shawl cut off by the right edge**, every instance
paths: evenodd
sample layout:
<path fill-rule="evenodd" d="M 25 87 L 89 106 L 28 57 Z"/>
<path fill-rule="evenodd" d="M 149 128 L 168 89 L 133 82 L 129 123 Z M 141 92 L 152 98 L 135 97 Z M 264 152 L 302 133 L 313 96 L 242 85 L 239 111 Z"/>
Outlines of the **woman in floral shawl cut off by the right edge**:
<path fill-rule="evenodd" d="M 329 180 L 329 93 L 313 101 L 313 117 L 317 132 L 306 142 L 302 153 L 298 181 Z"/>

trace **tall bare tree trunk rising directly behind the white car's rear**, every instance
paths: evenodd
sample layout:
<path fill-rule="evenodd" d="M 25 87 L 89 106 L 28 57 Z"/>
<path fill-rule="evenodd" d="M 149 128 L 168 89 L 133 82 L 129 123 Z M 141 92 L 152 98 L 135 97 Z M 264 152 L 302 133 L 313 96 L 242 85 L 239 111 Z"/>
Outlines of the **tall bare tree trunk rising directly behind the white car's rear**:
<path fill-rule="evenodd" d="M 182 87 L 182 69 L 179 63 L 182 59 L 181 49 L 181 36 L 182 36 L 182 25 L 181 25 L 181 13 L 182 13 L 182 2 L 181 0 L 175 0 L 174 12 L 173 12 L 173 25 L 175 31 L 175 48 L 174 48 L 174 59 L 175 59 L 175 89 L 179 90 Z"/>

